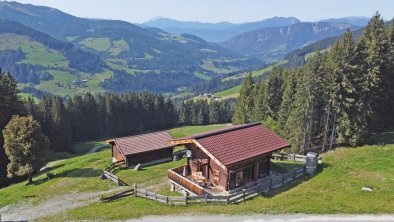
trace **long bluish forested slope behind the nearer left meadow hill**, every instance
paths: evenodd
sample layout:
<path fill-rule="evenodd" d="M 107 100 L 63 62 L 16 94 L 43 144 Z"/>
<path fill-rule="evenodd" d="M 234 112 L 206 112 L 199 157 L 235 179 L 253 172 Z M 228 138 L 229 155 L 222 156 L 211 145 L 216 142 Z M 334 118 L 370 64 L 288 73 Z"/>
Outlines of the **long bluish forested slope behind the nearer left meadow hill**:
<path fill-rule="evenodd" d="M 113 73 L 96 83 L 106 91 L 174 92 L 221 73 L 262 66 L 258 60 L 192 35 L 175 36 L 123 21 L 78 18 L 48 7 L 0 2 L 0 18 L 68 41 L 101 58 Z"/>

